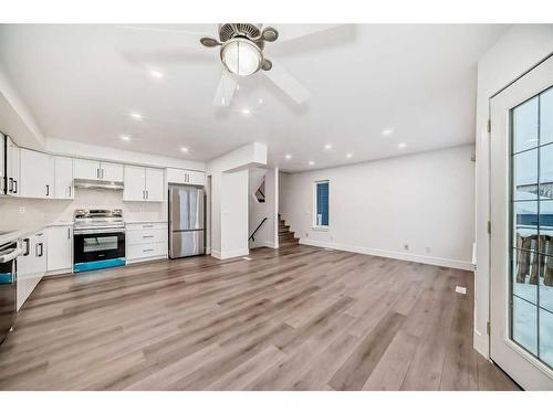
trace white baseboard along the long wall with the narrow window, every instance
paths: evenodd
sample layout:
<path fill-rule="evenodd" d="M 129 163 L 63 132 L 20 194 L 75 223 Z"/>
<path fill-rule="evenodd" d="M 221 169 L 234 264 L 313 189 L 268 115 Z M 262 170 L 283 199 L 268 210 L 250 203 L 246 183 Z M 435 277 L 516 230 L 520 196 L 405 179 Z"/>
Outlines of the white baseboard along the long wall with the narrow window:
<path fill-rule="evenodd" d="M 337 251 L 368 254 L 372 256 L 396 258 L 398 261 L 424 263 L 426 265 L 451 267 L 451 268 L 458 268 L 458 269 L 462 269 L 462 270 L 474 270 L 474 266 L 472 265 L 472 263 L 465 262 L 465 261 L 458 261 L 458 259 L 453 259 L 453 258 L 421 256 L 421 255 L 410 254 L 410 253 L 383 251 L 379 248 L 371 248 L 371 247 L 351 246 L 347 244 L 320 242 L 320 241 L 314 241 L 314 240 L 309 240 L 309 238 L 300 238 L 300 244 L 306 244 L 306 245 L 316 246 L 316 247 L 335 248 Z"/>

